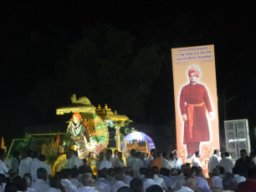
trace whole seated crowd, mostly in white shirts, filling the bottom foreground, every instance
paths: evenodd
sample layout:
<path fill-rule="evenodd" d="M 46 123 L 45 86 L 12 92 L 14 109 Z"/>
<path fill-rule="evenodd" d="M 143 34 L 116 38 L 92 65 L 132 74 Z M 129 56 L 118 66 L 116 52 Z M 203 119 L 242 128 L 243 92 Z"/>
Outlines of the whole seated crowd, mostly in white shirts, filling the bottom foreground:
<path fill-rule="evenodd" d="M 256 191 L 255 154 L 248 156 L 242 149 L 240 156 L 234 162 L 228 152 L 215 149 L 205 174 L 199 152 L 191 164 L 183 164 L 177 151 L 168 154 L 151 149 L 147 157 L 131 149 L 125 159 L 119 150 L 106 149 L 95 163 L 95 174 L 86 159 L 79 159 L 77 151 L 69 149 L 64 169 L 53 176 L 44 154 L 28 150 L 27 157 L 19 159 L 14 151 L 12 158 L 6 159 L 6 152 L 0 149 L 0 192 Z"/>

